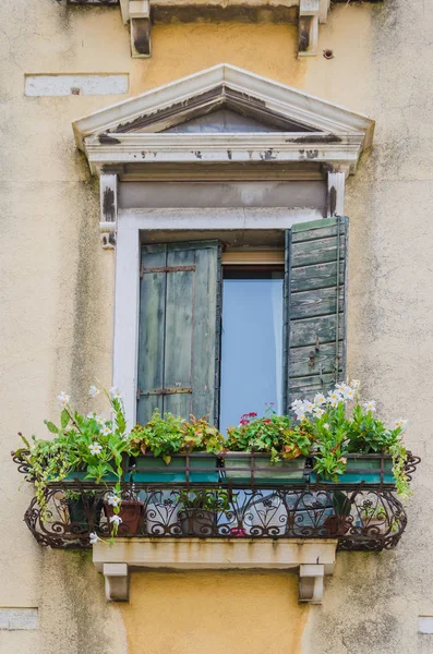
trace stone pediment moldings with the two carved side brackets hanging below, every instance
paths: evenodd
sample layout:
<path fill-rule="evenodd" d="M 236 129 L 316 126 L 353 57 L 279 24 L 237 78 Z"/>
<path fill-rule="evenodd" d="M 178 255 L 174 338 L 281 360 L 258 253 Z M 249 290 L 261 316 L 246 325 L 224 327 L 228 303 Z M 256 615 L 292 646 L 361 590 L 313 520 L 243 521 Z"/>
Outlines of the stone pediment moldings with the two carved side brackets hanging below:
<path fill-rule="evenodd" d="M 272 131 L 173 131 L 213 111 L 228 109 Z M 118 179 L 147 179 L 164 170 L 171 179 L 214 174 L 272 179 L 296 170 L 328 180 L 328 215 L 344 215 L 344 190 L 374 121 L 306 93 L 219 64 L 97 111 L 73 123 L 77 147 L 100 175 L 103 245 L 112 249 Z M 238 167 L 238 168 L 237 168 Z M 201 173 L 202 171 L 202 173 Z"/>

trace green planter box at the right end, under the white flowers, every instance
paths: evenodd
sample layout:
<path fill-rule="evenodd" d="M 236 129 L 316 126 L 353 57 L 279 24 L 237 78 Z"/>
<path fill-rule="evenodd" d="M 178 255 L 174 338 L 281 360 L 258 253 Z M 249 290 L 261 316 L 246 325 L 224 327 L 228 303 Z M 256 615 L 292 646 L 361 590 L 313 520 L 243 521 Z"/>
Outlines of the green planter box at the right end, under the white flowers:
<path fill-rule="evenodd" d="M 382 463 L 384 468 L 383 479 L 381 475 Z M 375 486 L 381 483 L 394 486 L 396 483 L 393 474 L 393 458 L 390 456 L 375 457 L 373 455 L 369 455 L 368 458 L 348 457 L 346 472 L 338 475 L 338 482 L 322 477 L 314 471 L 310 474 L 310 481 L 312 483 L 318 482 L 325 484 L 360 484 L 364 482 L 365 485 L 372 484 Z"/>

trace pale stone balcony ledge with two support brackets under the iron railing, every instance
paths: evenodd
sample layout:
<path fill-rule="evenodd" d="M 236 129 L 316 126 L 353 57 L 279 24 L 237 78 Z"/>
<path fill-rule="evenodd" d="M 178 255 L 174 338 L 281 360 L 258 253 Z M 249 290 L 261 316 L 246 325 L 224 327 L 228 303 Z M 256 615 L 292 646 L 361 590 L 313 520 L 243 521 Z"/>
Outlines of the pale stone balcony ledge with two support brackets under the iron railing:
<path fill-rule="evenodd" d="M 116 538 L 96 543 L 93 561 L 108 602 L 129 601 L 130 572 L 164 570 L 298 570 L 299 601 L 321 604 L 324 576 L 335 568 L 336 540 Z"/>

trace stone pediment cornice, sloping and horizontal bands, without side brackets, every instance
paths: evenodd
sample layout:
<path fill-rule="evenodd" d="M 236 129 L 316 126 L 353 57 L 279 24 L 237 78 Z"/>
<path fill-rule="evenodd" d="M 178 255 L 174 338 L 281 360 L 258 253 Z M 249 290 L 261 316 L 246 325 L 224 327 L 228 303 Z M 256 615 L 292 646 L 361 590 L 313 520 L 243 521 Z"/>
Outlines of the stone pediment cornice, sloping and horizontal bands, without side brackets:
<path fill-rule="evenodd" d="M 277 132 L 172 133 L 221 106 Z M 134 164 L 309 161 L 354 172 L 374 121 L 290 86 L 219 64 L 74 122 L 93 172 Z"/>

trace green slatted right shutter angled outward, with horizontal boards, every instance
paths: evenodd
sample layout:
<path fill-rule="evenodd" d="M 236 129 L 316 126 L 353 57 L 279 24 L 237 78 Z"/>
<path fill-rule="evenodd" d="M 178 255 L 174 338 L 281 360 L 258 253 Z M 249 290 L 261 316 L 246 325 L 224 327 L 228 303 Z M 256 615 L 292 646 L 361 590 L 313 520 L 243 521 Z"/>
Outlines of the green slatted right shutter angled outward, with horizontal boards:
<path fill-rule="evenodd" d="M 346 374 L 348 219 L 286 232 L 285 407 L 328 391 Z"/>

